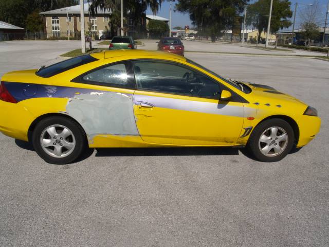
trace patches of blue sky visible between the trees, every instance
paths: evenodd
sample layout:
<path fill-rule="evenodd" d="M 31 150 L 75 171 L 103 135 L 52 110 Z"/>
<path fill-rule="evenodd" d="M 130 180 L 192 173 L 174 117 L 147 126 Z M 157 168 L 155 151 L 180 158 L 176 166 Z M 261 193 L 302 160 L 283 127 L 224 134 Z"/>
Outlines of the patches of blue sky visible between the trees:
<path fill-rule="evenodd" d="M 318 0 L 318 2 L 319 2 L 319 11 L 318 11 L 317 21 L 318 21 L 318 24 L 321 27 L 324 26 L 325 13 L 326 13 L 328 1 L 329 0 Z M 250 1 L 250 3 L 254 3 L 254 2 L 255 2 L 254 0 Z M 291 10 L 293 12 L 295 11 L 296 2 L 298 3 L 297 15 L 296 15 L 296 24 L 295 24 L 295 29 L 298 29 L 301 25 L 301 22 L 302 22 L 300 12 L 302 12 L 305 8 L 312 8 L 310 6 L 305 6 L 305 5 L 313 4 L 314 0 L 298 0 L 298 1 L 290 0 L 290 2 L 291 2 Z M 173 2 L 173 4 L 172 4 L 173 9 L 174 9 L 174 5 L 175 5 L 175 2 Z M 157 13 L 157 15 L 169 19 L 169 9 L 170 9 L 170 3 L 167 2 L 167 1 L 163 2 L 161 4 L 161 9 Z M 152 13 L 152 11 L 147 10 L 147 14 L 153 14 L 153 13 Z M 172 25 L 171 25 L 172 28 L 175 27 L 175 26 L 184 27 L 185 25 L 189 25 L 190 28 L 193 27 L 193 25 L 191 24 L 190 16 L 188 14 L 182 14 L 178 11 L 176 11 L 176 12 L 172 11 L 171 14 L 172 14 L 171 15 L 172 16 Z M 247 14 L 248 14 L 248 10 L 247 10 Z M 294 18 L 294 16 L 293 16 L 293 18 Z M 328 19 L 329 19 L 329 17 L 328 17 Z M 293 19 L 291 19 L 291 22 L 293 22 Z M 289 29 L 292 29 L 292 26 Z"/>

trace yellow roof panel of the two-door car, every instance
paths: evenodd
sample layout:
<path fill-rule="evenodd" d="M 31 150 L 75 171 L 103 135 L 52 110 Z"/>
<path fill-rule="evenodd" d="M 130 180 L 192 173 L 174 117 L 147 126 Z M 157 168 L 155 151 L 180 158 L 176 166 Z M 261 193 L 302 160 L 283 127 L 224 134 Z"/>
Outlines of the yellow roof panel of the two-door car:
<path fill-rule="evenodd" d="M 159 59 L 167 59 L 167 60 L 178 59 L 178 60 L 186 61 L 185 57 L 178 56 L 175 54 L 170 54 L 169 52 L 152 51 L 152 50 L 135 50 L 135 49 L 105 50 L 101 52 L 91 53 L 90 56 L 97 58 L 99 60 L 107 59 L 107 58 L 115 58 L 115 57 L 134 56 L 140 58 L 157 57 Z"/>

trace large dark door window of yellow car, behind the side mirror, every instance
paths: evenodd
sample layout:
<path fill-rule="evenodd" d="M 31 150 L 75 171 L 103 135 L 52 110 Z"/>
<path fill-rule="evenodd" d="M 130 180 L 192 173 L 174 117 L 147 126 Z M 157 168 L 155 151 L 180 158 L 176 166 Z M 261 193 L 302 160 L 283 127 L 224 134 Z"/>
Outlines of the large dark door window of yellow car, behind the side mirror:
<path fill-rule="evenodd" d="M 184 65 L 139 60 L 133 61 L 137 88 L 203 98 L 218 98 L 220 84 Z"/>

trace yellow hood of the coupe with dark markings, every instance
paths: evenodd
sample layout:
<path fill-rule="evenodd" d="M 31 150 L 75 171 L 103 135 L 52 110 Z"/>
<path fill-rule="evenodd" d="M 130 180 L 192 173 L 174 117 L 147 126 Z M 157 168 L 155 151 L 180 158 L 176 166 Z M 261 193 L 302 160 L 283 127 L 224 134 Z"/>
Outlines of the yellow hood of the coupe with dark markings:
<path fill-rule="evenodd" d="M 307 107 L 307 104 L 302 102 L 295 97 L 282 93 L 271 86 L 242 82 L 250 87 L 251 93 L 247 94 L 249 96 L 250 103 L 259 103 L 259 105 L 272 105 L 277 107 L 284 107 L 289 105 L 298 105 L 302 109 Z M 268 105 L 269 104 L 269 105 Z"/>

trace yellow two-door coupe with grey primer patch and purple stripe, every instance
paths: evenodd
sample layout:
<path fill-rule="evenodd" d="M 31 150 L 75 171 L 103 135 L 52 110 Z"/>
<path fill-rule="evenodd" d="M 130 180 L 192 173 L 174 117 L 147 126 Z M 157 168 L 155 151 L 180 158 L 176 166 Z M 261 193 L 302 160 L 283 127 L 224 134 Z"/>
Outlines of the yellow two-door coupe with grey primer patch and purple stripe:
<path fill-rule="evenodd" d="M 317 111 L 266 85 L 224 79 L 181 56 L 102 51 L 10 72 L 0 131 L 53 164 L 85 148 L 247 147 L 263 162 L 319 132 Z"/>

